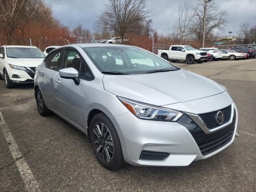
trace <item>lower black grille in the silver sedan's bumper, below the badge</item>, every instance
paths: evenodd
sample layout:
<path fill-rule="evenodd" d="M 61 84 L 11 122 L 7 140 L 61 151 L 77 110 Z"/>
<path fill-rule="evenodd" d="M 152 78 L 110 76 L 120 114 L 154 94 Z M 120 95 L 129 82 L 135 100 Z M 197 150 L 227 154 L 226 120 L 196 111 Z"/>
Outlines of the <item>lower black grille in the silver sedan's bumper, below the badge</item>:
<path fill-rule="evenodd" d="M 211 140 L 206 143 L 202 143 L 198 145 L 202 155 L 208 155 L 211 152 L 214 152 L 215 150 L 221 148 L 222 146 L 226 145 L 228 142 L 231 141 L 232 136 L 234 133 L 234 128 L 229 131 L 228 133 L 224 134 L 223 136 L 216 138 L 214 140 Z"/>

